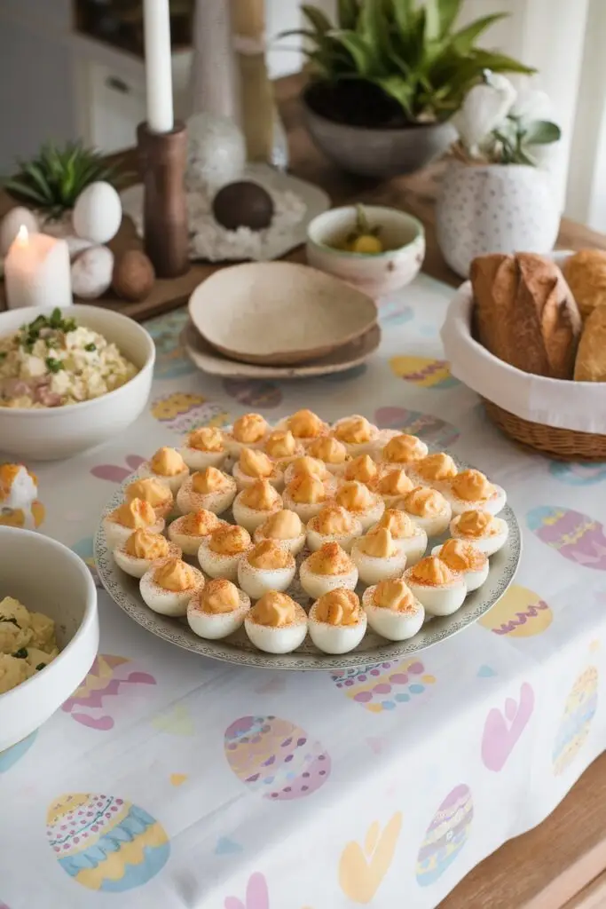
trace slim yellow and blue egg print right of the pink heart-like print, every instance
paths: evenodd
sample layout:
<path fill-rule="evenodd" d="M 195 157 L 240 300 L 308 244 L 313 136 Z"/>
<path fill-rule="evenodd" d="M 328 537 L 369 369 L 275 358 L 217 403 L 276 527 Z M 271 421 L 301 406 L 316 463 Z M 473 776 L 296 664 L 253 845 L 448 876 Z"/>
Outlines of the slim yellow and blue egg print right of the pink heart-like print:
<path fill-rule="evenodd" d="M 563 774 L 581 751 L 598 709 L 598 670 L 589 666 L 572 685 L 553 743 L 551 764 L 556 776 Z"/>

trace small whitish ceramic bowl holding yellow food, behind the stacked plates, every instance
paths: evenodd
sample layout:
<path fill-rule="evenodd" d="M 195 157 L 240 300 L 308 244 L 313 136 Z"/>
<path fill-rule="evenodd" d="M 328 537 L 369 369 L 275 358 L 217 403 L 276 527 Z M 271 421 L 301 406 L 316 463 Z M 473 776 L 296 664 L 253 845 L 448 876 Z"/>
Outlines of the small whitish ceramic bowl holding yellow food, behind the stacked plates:
<path fill-rule="evenodd" d="M 425 257 L 425 231 L 412 215 L 381 205 L 365 205 L 371 227 L 381 225 L 385 252 L 375 255 L 339 249 L 355 229 L 354 205 L 318 215 L 307 228 L 307 261 L 376 299 L 408 285 Z"/>

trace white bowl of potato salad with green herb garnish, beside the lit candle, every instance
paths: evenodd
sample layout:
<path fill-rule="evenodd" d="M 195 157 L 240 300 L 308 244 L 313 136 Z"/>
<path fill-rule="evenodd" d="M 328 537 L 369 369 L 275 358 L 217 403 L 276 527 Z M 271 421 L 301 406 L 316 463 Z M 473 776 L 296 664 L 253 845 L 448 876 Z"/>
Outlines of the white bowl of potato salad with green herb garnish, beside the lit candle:
<path fill-rule="evenodd" d="M 154 360 L 148 332 L 112 310 L 0 314 L 0 452 L 52 461 L 105 442 L 143 412 Z"/>

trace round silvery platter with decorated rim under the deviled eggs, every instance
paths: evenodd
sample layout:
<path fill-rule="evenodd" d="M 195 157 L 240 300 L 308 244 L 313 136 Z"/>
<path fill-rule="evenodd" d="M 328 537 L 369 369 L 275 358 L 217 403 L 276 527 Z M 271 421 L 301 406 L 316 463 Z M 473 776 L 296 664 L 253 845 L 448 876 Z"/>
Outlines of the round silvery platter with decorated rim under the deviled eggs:
<path fill-rule="evenodd" d="M 123 487 L 117 490 L 104 507 L 102 518 L 124 501 L 124 486 L 131 483 L 134 478 L 136 478 L 136 474 L 124 481 Z M 446 638 L 452 637 L 453 634 L 458 634 L 463 628 L 477 622 L 483 614 L 492 608 L 509 585 L 512 584 L 522 553 L 520 526 L 510 506 L 507 505 L 499 516 L 509 526 L 508 541 L 501 552 L 492 555 L 490 572 L 486 583 L 479 590 L 469 594 L 458 612 L 446 618 L 433 618 L 427 621 L 421 631 L 411 640 L 397 644 L 386 641 L 379 634 L 374 634 L 369 629 L 364 635 L 362 644 L 351 653 L 343 654 L 342 656 L 322 654 L 313 645 L 309 635 L 298 650 L 295 650 L 292 654 L 282 656 L 263 654 L 258 651 L 246 637 L 243 628 L 236 634 L 224 638 L 223 641 L 204 641 L 203 638 L 194 634 L 186 620 L 166 618 L 164 615 L 154 613 L 144 604 L 139 593 L 138 581 L 124 574 L 114 563 L 112 553 L 105 543 L 101 524 L 94 539 L 94 559 L 104 588 L 114 602 L 127 615 L 130 615 L 136 623 L 146 628 L 147 631 L 152 632 L 152 634 L 163 638 L 169 644 L 183 647 L 184 650 L 190 650 L 194 654 L 210 656 L 215 660 L 223 660 L 225 663 L 256 666 L 262 669 L 350 669 L 365 664 L 382 663 L 385 660 L 395 660 L 404 656 L 418 654 L 420 651 L 426 650 L 427 647 L 431 647 L 432 644 L 439 644 Z M 231 512 L 222 514 L 222 517 L 228 521 L 233 521 Z M 430 552 L 432 546 L 439 543 L 442 538 L 430 540 L 427 551 Z M 307 550 L 303 550 L 303 553 L 297 558 L 297 568 L 308 554 Z M 363 586 L 357 590 L 360 595 L 362 592 Z M 312 601 L 299 584 L 298 571 L 296 579 L 287 593 L 298 603 L 302 604 L 304 608 L 308 608 L 311 605 Z"/>

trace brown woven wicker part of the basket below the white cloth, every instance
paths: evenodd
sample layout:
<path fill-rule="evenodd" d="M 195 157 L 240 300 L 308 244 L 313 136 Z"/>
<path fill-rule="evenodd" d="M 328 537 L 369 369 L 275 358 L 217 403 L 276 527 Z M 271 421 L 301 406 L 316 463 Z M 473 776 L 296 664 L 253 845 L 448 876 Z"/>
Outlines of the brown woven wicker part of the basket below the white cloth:
<path fill-rule="evenodd" d="M 510 414 L 486 398 L 482 398 L 482 401 L 492 423 L 514 442 L 558 461 L 606 461 L 606 435 L 579 433 L 574 429 L 531 423 L 530 420 L 522 420 L 522 417 Z"/>

